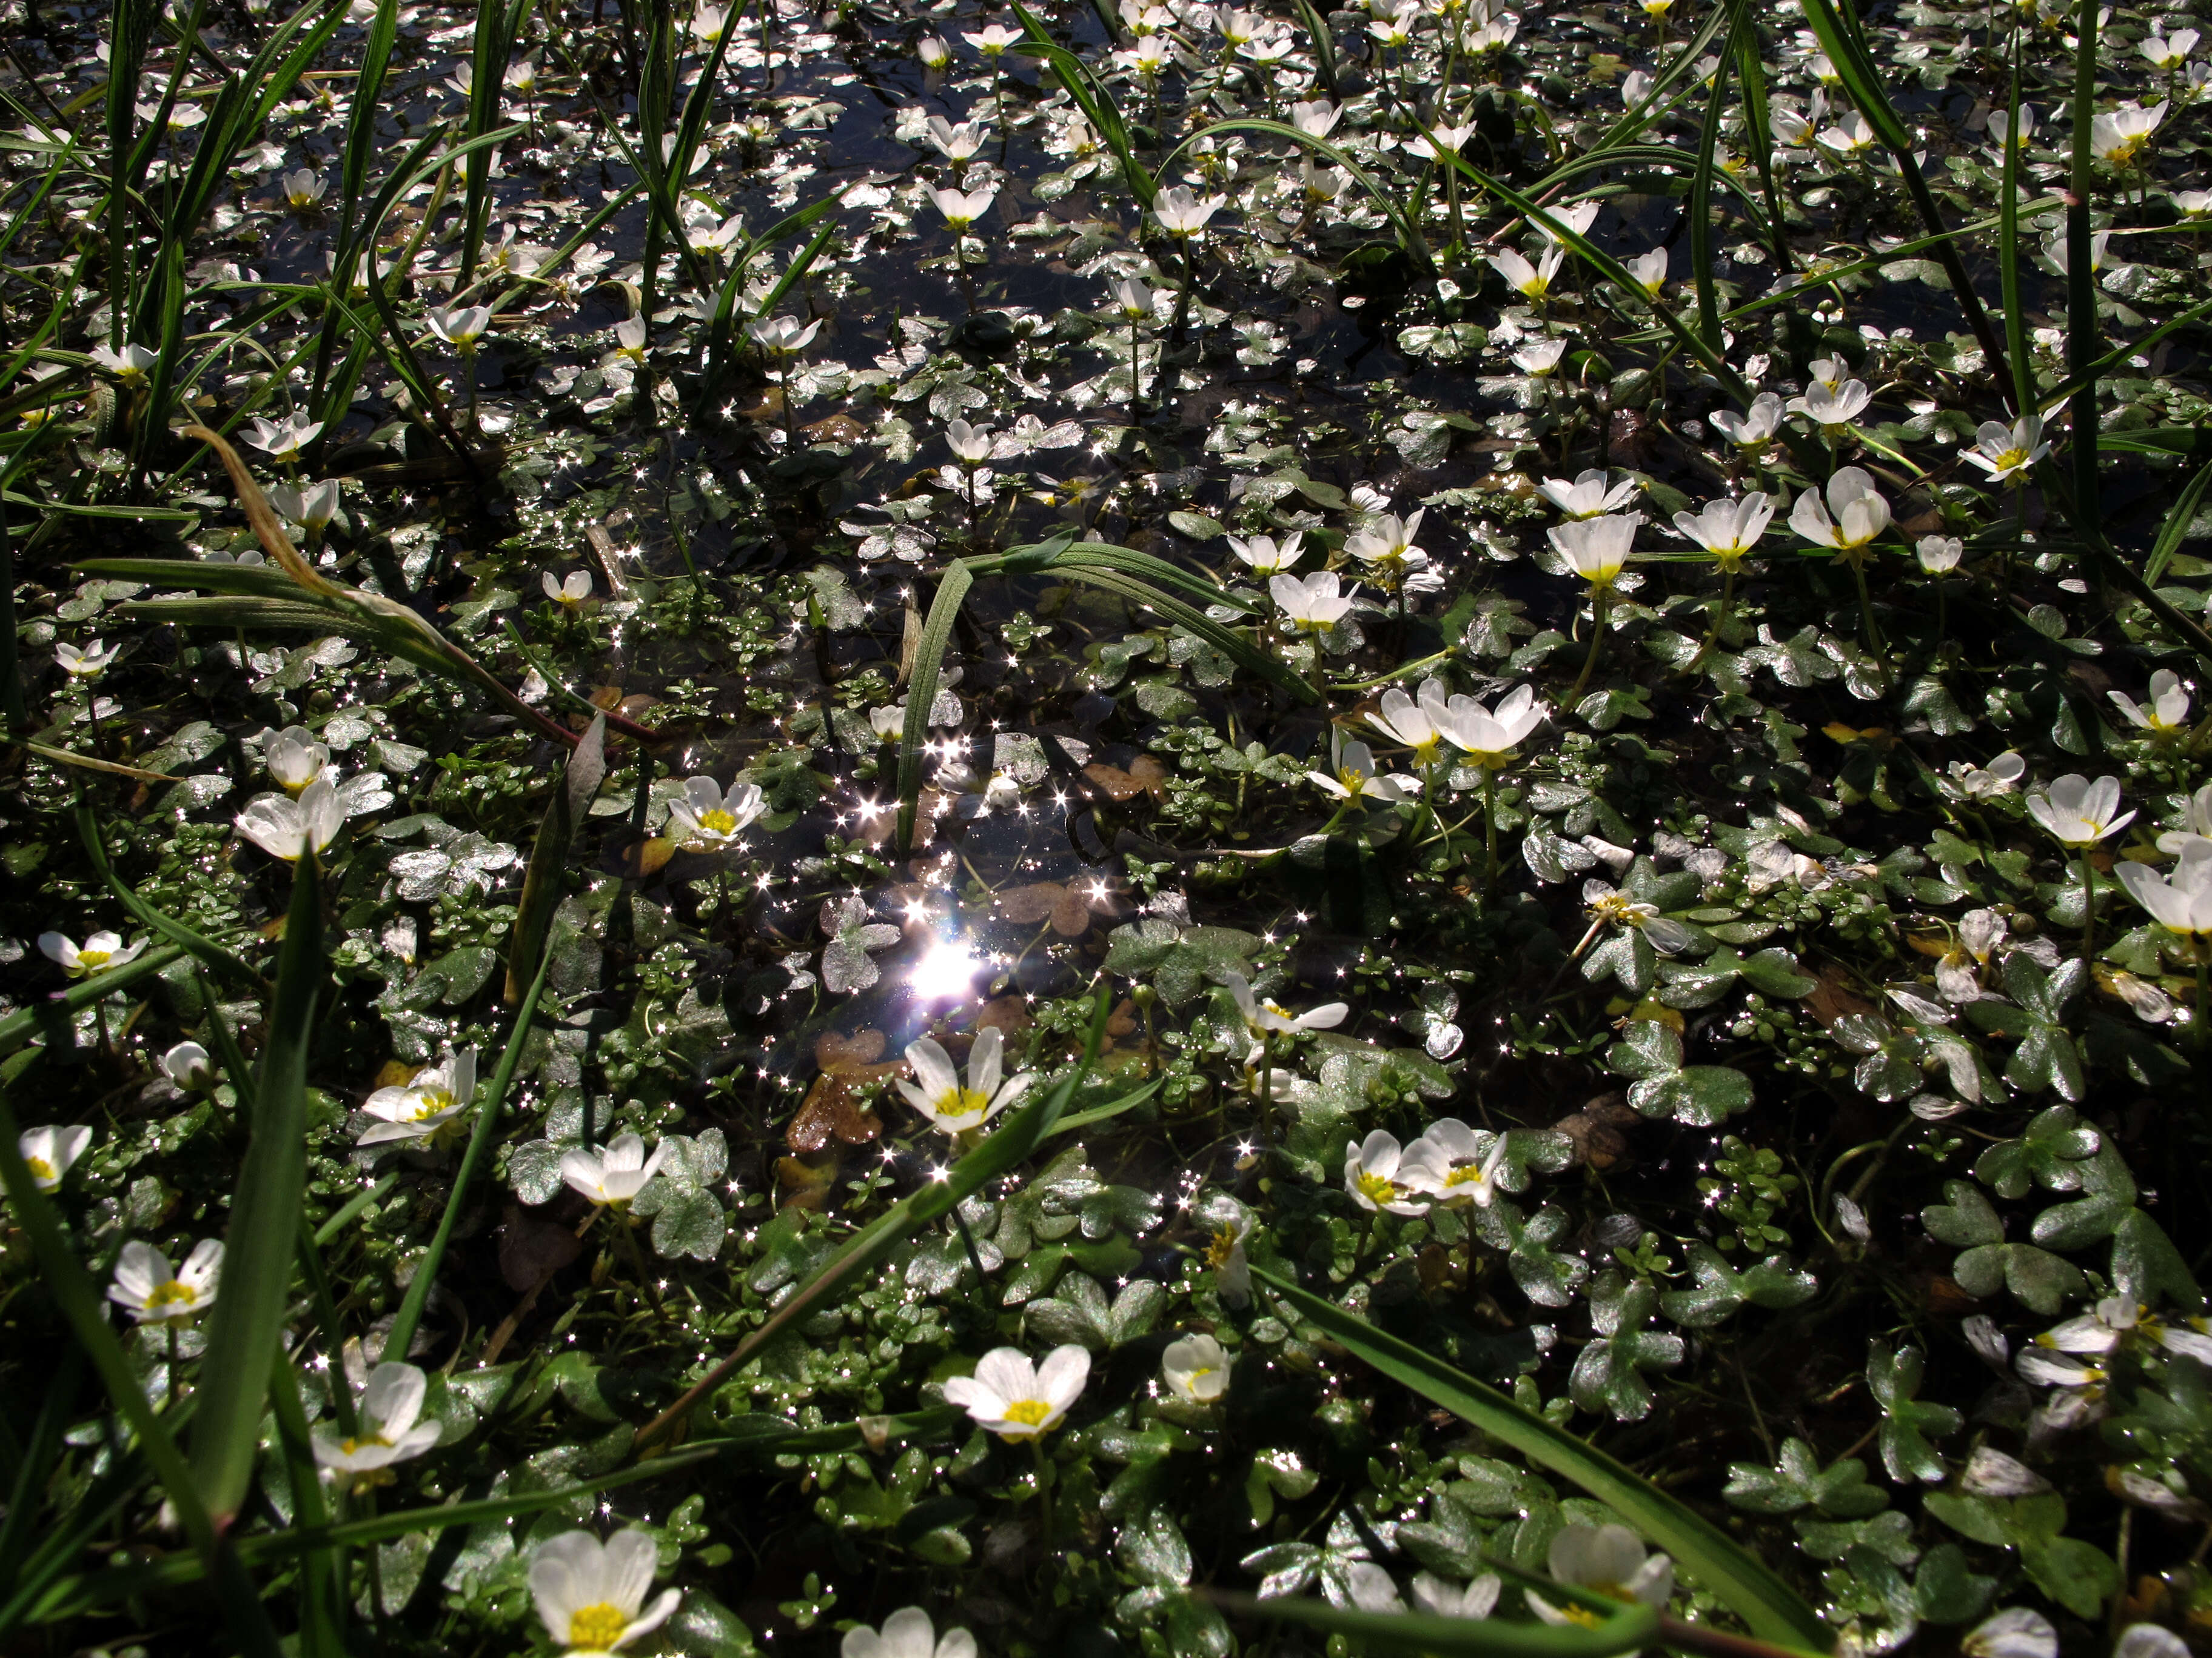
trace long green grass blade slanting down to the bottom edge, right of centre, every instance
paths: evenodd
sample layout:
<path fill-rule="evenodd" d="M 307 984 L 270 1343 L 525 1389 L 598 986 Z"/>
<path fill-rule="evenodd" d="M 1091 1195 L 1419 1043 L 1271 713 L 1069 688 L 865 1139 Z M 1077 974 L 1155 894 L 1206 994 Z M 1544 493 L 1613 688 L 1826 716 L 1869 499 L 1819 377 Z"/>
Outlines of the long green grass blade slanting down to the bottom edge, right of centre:
<path fill-rule="evenodd" d="M 1721 1596 L 1723 1605 L 1743 1618 L 1761 1640 L 1809 1651 L 1827 1651 L 1834 1645 L 1834 1631 L 1820 1616 L 1756 1556 L 1732 1543 L 1703 1514 L 1674 1501 L 1606 1452 L 1564 1428 L 1555 1428 L 1498 1388 L 1455 1371 L 1411 1342 L 1385 1335 L 1336 1302 L 1298 1289 L 1261 1267 L 1252 1269 L 1252 1278 L 1296 1309 L 1301 1318 L 1327 1331 L 1356 1360 L 1371 1364 L 1394 1382 L 1413 1388 L 1420 1397 L 1444 1406 L 1493 1439 L 1513 1446 L 1528 1461 L 1551 1468 L 1610 1505 L 1672 1554 L 1683 1572 Z"/>

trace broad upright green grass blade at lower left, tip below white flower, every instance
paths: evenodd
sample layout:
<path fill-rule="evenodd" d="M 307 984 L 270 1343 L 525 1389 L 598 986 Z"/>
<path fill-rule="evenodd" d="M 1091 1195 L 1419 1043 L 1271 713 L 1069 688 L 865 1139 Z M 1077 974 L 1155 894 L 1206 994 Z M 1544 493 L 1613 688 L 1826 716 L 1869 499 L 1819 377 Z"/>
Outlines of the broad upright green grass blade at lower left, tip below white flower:
<path fill-rule="evenodd" d="M 292 867 L 276 997 L 254 1079 L 252 1141 L 230 1207 L 223 1282 L 208 1320 L 192 1419 L 192 1477 L 208 1512 L 226 1525 L 252 1481 L 270 1362 L 283 1340 L 307 1183 L 307 1048 L 323 977 L 323 882 L 307 856 Z"/>

